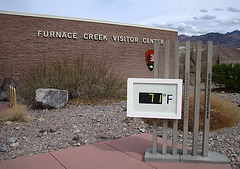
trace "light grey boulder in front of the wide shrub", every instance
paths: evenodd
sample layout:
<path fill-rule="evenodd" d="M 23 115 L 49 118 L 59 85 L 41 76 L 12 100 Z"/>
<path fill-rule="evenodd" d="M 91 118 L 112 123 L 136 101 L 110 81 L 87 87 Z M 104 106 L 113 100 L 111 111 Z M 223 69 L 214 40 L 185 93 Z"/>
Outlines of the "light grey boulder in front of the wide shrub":
<path fill-rule="evenodd" d="M 68 91 L 59 89 L 37 89 L 36 102 L 44 109 L 63 108 L 68 102 Z"/>

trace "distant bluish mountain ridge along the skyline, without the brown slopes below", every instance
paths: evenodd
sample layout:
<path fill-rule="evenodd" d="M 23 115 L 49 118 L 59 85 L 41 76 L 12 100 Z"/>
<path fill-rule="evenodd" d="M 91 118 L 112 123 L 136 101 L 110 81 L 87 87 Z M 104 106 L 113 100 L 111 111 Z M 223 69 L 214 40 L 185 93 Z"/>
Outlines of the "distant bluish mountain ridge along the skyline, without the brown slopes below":
<path fill-rule="evenodd" d="M 214 45 L 221 45 L 227 46 L 232 48 L 240 48 L 240 31 L 236 30 L 233 32 L 228 32 L 226 34 L 221 33 L 207 33 L 206 35 L 200 36 L 186 36 L 186 35 L 179 35 L 178 36 L 179 42 L 196 42 L 202 41 L 205 44 L 207 41 L 213 41 Z"/>

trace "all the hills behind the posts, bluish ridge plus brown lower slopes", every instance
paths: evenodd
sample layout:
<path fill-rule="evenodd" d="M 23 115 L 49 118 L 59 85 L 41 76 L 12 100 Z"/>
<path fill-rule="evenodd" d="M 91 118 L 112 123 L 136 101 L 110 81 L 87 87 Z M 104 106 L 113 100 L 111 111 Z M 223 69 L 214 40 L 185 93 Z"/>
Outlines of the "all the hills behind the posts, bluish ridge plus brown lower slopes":
<path fill-rule="evenodd" d="M 196 58 L 196 41 L 202 41 L 203 51 L 202 51 L 202 74 L 201 77 L 205 75 L 205 65 L 206 65 L 206 42 L 213 41 L 213 58 L 212 64 L 217 63 L 240 63 L 240 31 L 233 31 L 231 33 L 220 34 L 220 33 L 208 33 L 206 35 L 200 36 L 178 36 L 180 42 L 179 53 L 180 53 L 180 77 L 184 78 L 184 64 L 185 64 L 185 45 L 186 41 L 191 42 L 191 61 L 190 61 L 190 76 L 193 83 L 195 74 L 195 58 Z"/>

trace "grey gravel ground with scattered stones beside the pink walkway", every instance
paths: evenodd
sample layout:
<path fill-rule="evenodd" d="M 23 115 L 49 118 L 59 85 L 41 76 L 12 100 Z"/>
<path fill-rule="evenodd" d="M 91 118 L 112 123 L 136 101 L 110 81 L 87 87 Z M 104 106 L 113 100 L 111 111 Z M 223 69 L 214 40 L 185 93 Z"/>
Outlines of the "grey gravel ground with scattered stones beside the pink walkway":
<path fill-rule="evenodd" d="M 219 93 L 240 104 L 240 94 Z M 1 102 L 1 104 L 6 104 Z M 151 133 L 152 126 L 139 118 L 126 117 L 126 102 L 100 105 L 68 105 L 58 110 L 31 110 L 34 122 L 5 122 L 0 126 L 0 160 L 13 159 L 68 147 Z M 161 137 L 162 128 L 158 135 Z M 168 139 L 172 130 L 168 129 Z M 199 140 L 202 132 L 199 133 Z M 178 132 L 182 142 L 182 132 Z M 189 132 L 189 146 L 192 133 Z M 210 132 L 209 149 L 225 154 L 233 168 L 240 168 L 240 123 Z M 199 143 L 199 147 L 201 143 Z"/>

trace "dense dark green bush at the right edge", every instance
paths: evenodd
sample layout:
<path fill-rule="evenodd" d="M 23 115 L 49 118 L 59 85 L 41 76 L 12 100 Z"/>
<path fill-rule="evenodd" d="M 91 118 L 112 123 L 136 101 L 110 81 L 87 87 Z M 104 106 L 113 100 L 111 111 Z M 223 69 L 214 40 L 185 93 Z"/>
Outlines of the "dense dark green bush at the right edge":
<path fill-rule="evenodd" d="M 212 68 L 213 81 L 227 89 L 240 91 L 240 64 L 217 64 Z"/>

